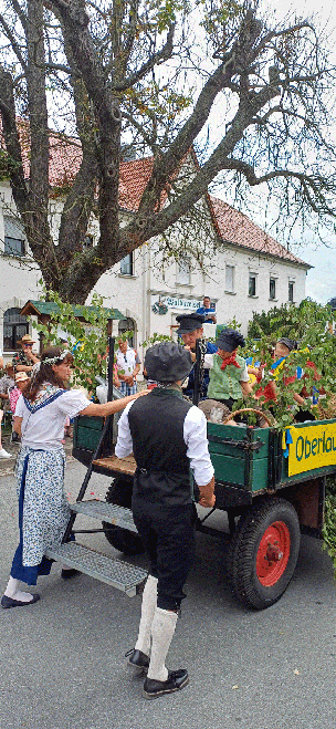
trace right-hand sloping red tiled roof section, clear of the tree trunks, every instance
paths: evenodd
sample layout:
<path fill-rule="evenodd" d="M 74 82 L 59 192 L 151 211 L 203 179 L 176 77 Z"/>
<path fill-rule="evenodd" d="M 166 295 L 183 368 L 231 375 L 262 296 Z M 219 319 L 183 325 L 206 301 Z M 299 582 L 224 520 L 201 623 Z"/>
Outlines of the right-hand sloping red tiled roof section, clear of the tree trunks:
<path fill-rule="evenodd" d="M 311 268 L 239 210 L 212 195 L 209 195 L 209 200 L 214 225 L 223 242 Z"/>

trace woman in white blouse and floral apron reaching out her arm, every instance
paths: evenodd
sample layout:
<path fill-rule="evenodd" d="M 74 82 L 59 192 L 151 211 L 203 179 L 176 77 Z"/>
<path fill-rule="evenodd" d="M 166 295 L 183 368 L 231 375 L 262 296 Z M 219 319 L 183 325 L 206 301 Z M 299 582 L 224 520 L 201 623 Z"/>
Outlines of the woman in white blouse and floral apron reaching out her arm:
<path fill-rule="evenodd" d="M 1 598 L 4 608 L 30 605 L 40 598 L 39 594 L 22 592 L 20 581 L 35 585 L 38 575 L 50 573 L 52 563 L 44 556 L 45 550 L 61 544 L 70 519 L 62 446 L 66 416 L 112 415 L 143 394 L 103 405 L 91 403 L 80 389 L 67 389 L 72 363 L 69 350 L 46 350 L 15 407 L 14 430 L 22 442 L 15 472 L 20 543 Z M 64 579 L 74 574 L 75 570 L 62 570 Z"/>

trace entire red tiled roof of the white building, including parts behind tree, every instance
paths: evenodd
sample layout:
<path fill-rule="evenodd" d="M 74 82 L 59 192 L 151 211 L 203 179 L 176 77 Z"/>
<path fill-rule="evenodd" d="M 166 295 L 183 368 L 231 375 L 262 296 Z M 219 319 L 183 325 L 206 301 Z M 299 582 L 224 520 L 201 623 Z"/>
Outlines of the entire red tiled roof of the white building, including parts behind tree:
<path fill-rule="evenodd" d="M 20 121 L 20 139 L 24 174 L 29 177 L 30 139 L 29 127 L 24 121 Z M 4 146 L 3 137 L 1 138 L 0 146 Z M 71 184 L 78 171 L 81 162 L 82 148 L 78 139 L 65 137 L 55 132 L 50 133 L 49 179 L 51 187 L 63 187 L 66 184 Z M 141 159 L 122 163 L 119 205 L 124 210 L 136 212 L 151 170 L 153 157 L 143 157 Z M 164 192 L 161 204 L 165 198 L 166 194 Z M 308 263 L 305 263 L 287 251 L 284 246 L 281 246 L 281 243 L 252 222 L 245 215 L 211 195 L 209 195 L 208 199 L 213 223 L 223 242 L 311 268 Z"/>

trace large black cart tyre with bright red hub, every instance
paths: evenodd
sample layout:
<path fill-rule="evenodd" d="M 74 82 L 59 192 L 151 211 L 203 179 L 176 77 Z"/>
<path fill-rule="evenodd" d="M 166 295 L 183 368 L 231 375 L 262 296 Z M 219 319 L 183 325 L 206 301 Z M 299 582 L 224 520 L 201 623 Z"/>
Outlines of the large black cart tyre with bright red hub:
<path fill-rule="evenodd" d="M 298 556 L 300 524 L 284 499 L 263 500 L 241 518 L 229 552 L 231 590 L 248 607 L 264 610 L 288 586 Z"/>

